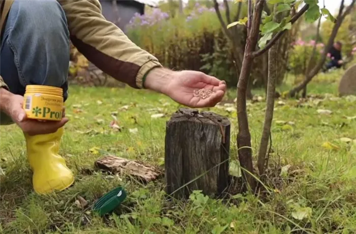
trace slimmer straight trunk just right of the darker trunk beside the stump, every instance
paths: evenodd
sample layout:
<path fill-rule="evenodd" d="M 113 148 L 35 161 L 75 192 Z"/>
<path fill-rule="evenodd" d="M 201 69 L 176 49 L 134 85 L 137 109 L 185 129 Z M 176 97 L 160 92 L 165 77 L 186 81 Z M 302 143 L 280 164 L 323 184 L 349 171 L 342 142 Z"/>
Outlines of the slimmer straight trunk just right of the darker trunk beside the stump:
<path fill-rule="evenodd" d="M 274 7 L 274 21 L 280 22 L 281 14 L 276 14 L 277 4 Z M 271 47 L 268 53 L 268 79 L 267 79 L 267 94 L 266 94 L 266 111 L 264 113 L 264 123 L 261 136 L 261 142 L 258 151 L 258 172 L 259 176 L 264 174 L 265 159 L 271 134 L 271 126 L 273 120 L 273 112 L 275 107 L 276 80 L 278 73 L 278 46 L 279 41 Z"/>

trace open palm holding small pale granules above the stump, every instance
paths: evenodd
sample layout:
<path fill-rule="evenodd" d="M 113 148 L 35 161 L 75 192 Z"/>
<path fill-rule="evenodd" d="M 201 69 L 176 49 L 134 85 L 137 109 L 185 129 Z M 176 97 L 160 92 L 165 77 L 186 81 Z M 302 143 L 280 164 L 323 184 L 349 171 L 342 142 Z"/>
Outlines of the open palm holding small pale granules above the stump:
<path fill-rule="evenodd" d="M 202 99 L 194 95 L 199 89 L 211 90 L 213 93 Z M 171 99 L 192 108 L 215 106 L 222 100 L 225 91 L 225 81 L 197 71 L 177 72 L 166 86 L 166 93 Z"/>

